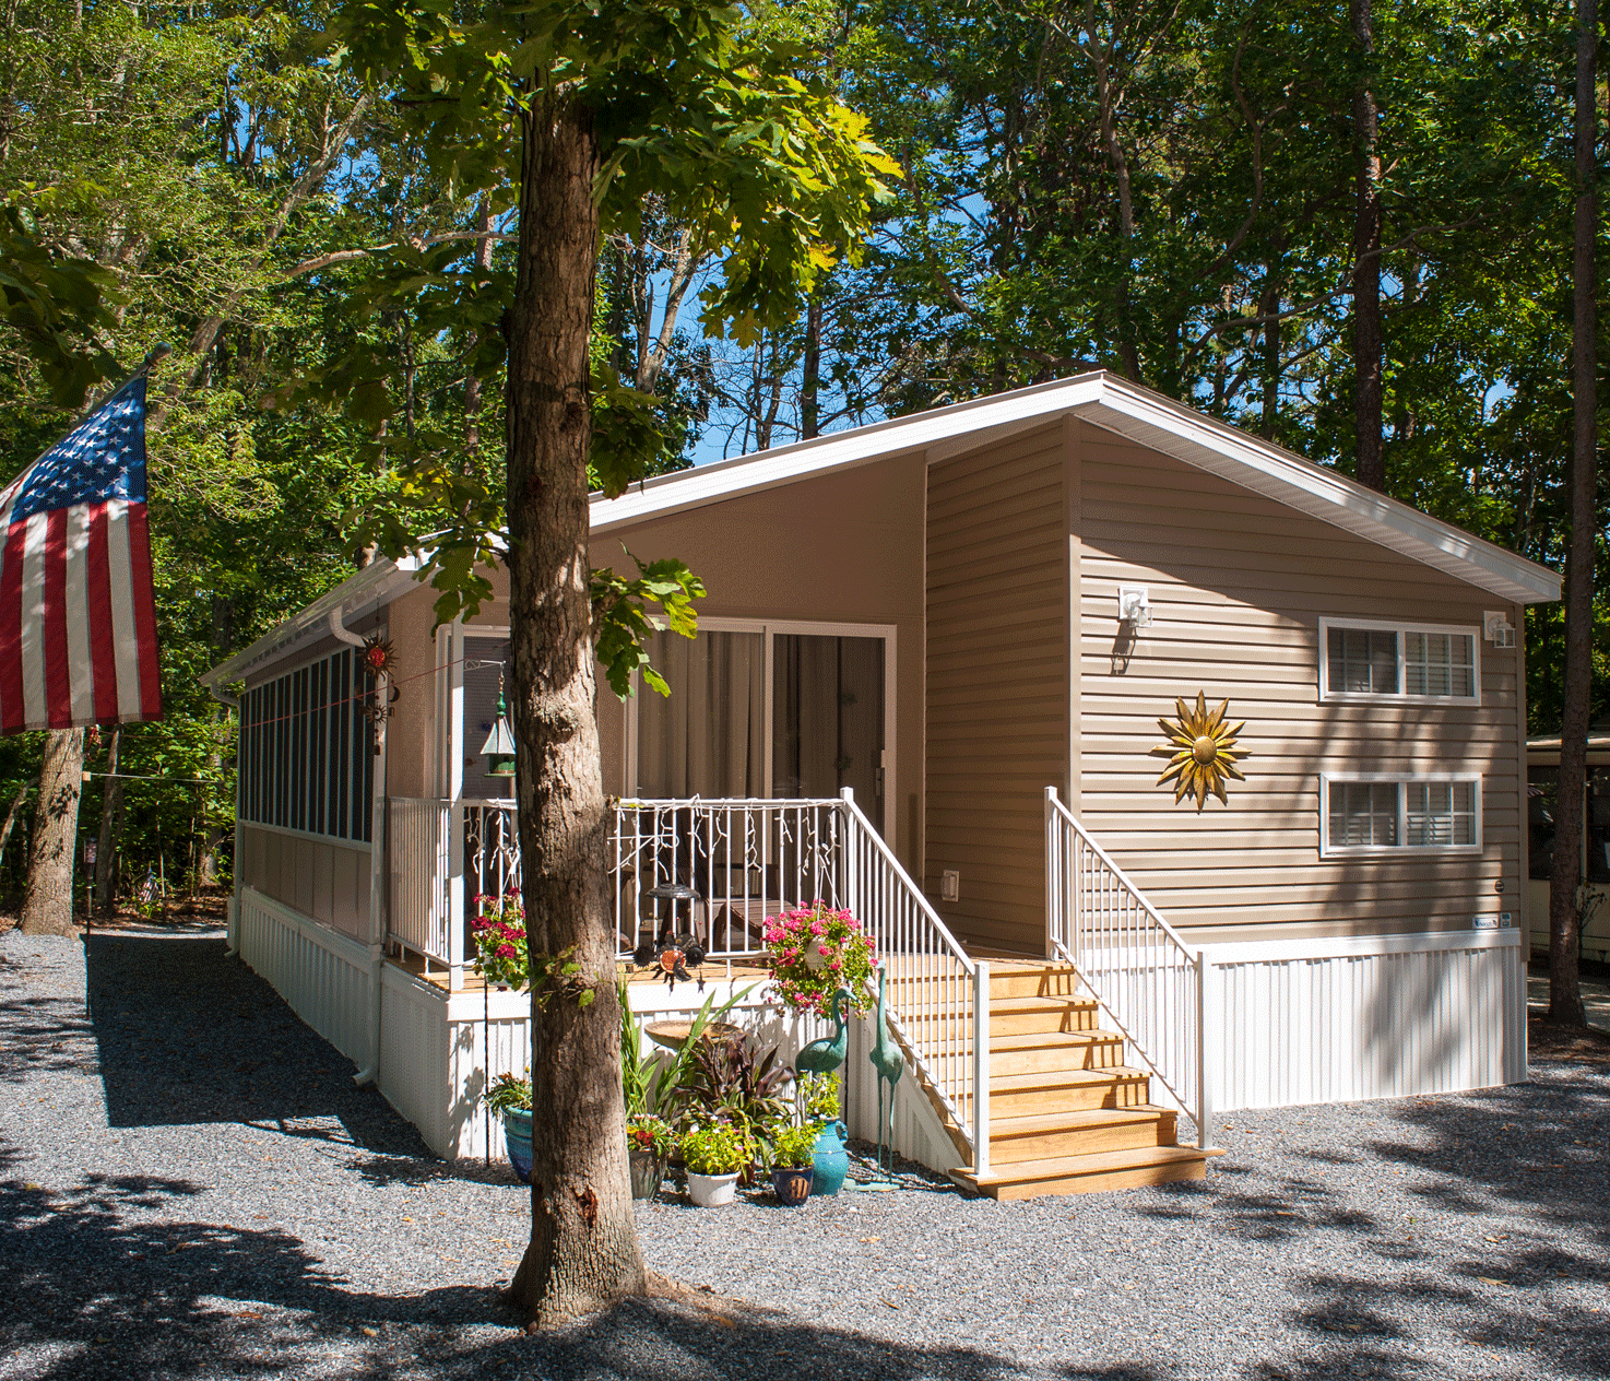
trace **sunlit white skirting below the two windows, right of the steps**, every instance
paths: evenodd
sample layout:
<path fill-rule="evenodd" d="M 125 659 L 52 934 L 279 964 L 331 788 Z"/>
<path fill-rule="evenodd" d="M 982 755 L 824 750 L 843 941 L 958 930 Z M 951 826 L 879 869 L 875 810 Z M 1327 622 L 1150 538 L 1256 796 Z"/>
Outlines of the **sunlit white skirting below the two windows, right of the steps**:
<path fill-rule="evenodd" d="M 1288 1107 L 1526 1078 L 1518 930 L 1209 945 L 1212 1107 Z"/>

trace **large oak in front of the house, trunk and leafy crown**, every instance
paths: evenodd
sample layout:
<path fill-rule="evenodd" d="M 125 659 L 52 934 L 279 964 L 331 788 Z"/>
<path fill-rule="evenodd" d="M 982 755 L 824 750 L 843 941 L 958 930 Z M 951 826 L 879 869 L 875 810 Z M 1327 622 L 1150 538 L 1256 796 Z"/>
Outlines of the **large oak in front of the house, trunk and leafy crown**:
<path fill-rule="evenodd" d="M 889 161 L 861 121 L 802 79 L 805 55 L 741 11 L 679 0 L 554 0 L 464 13 L 356 0 L 351 64 L 428 129 L 457 185 L 515 187 L 507 344 L 507 565 L 520 847 L 531 961 L 531 1243 L 514 1294 L 560 1323 L 641 1292 L 626 1177 L 620 1014 L 604 880 L 594 697 L 589 464 L 620 493 L 649 459 L 628 390 L 596 430 L 589 346 L 601 237 L 649 196 L 720 262 L 705 328 L 786 319 L 834 246 L 853 246 Z M 370 399 L 374 409 L 374 399 Z M 378 406 L 380 414 L 385 404 Z M 488 505 L 470 505 L 472 528 Z M 485 531 L 457 550 L 485 550 Z M 473 604 L 444 565 L 438 613 Z M 483 586 L 480 587 L 483 589 Z"/>

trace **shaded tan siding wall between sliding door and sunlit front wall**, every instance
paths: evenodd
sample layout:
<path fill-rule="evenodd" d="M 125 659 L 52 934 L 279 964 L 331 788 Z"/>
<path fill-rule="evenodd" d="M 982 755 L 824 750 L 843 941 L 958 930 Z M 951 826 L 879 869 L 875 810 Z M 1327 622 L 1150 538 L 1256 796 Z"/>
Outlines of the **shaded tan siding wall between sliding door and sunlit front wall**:
<path fill-rule="evenodd" d="M 927 472 L 927 866 L 964 943 L 1043 953 L 1042 795 L 1067 769 L 1061 423 Z M 940 901 L 945 869 L 960 900 Z"/>

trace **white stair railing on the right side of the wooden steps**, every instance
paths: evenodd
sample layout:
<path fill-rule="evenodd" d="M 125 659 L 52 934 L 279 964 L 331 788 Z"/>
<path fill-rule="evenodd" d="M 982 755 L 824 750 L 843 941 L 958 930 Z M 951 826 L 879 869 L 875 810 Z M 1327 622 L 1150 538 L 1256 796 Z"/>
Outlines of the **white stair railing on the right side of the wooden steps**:
<path fill-rule="evenodd" d="M 1053 953 L 1077 971 L 1130 1049 L 1211 1146 L 1203 953 L 1045 789 L 1045 909 Z"/>

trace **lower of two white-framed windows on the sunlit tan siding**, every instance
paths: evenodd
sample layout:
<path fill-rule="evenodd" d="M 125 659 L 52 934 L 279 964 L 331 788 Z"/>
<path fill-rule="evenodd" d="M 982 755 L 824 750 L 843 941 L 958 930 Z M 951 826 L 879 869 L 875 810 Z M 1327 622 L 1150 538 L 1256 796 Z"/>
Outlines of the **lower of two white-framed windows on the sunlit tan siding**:
<path fill-rule="evenodd" d="M 1480 853 L 1473 773 L 1320 774 L 1320 855 Z"/>

